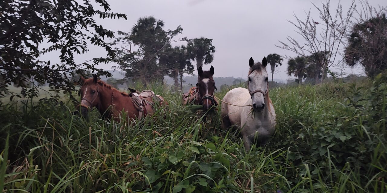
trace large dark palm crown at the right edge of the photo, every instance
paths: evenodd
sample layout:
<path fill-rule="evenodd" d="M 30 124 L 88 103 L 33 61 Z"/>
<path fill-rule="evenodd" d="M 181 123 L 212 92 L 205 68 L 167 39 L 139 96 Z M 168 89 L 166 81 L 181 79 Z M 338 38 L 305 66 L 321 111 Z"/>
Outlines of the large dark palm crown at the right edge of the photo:
<path fill-rule="evenodd" d="M 360 63 L 369 77 L 387 69 L 386 14 L 354 25 L 344 49 L 344 59 L 350 67 Z"/>

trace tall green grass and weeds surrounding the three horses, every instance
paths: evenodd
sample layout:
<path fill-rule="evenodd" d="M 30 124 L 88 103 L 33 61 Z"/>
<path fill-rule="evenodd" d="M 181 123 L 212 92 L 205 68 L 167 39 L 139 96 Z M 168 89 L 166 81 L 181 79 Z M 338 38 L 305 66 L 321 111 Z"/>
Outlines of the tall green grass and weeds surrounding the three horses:
<path fill-rule="evenodd" d="M 161 87 L 150 89 L 170 112 L 131 126 L 96 111 L 87 122 L 71 102 L 9 103 L 0 111 L 0 190 L 385 193 L 386 83 L 274 88 L 276 133 L 248 152 L 236 132 L 221 130 L 220 112 L 203 121 Z"/>

